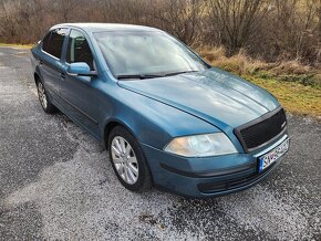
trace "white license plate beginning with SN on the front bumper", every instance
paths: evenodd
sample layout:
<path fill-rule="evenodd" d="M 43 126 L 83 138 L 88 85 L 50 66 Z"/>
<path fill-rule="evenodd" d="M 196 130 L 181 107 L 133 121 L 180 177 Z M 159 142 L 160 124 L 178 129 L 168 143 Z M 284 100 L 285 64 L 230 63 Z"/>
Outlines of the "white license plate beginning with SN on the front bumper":
<path fill-rule="evenodd" d="M 266 155 L 259 157 L 259 172 L 271 166 L 277 159 L 283 156 L 289 149 L 289 139 L 286 139 L 275 149 L 270 150 Z"/>

